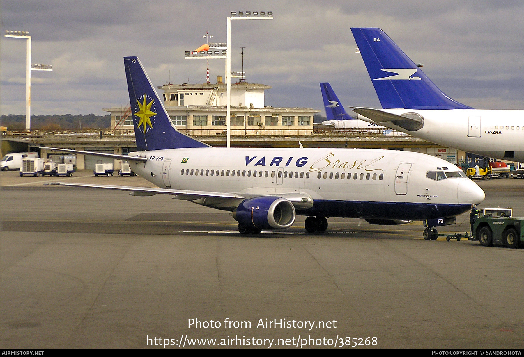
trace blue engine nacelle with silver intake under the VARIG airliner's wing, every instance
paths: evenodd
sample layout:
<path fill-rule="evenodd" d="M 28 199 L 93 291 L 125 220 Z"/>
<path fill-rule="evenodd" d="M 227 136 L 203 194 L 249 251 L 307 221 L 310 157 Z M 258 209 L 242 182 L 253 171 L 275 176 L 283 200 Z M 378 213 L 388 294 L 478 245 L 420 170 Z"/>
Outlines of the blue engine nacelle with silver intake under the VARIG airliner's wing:
<path fill-rule="evenodd" d="M 289 228 L 296 217 L 293 204 L 286 198 L 262 196 L 242 201 L 233 218 L 244 227 L 255 229 Z"/>

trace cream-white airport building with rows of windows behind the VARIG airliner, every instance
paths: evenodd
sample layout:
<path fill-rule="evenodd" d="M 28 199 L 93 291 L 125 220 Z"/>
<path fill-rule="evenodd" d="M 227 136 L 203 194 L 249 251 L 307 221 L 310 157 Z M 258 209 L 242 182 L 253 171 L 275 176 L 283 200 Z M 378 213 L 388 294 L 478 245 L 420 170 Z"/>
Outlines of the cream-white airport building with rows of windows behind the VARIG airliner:
<path fill-rule="evenodd" d="M 265 105 L 269 85 L 238 82 L 231 84 L 231 135 L 312 135 L 313 108 Z M 165 84 L 164 106 L 177 129 L 188 135 L 222 135 L 226 130 L 226 84 Z M 133 130 L 128 108 L 104 108 L 111 113 L 111 130 Z"/>

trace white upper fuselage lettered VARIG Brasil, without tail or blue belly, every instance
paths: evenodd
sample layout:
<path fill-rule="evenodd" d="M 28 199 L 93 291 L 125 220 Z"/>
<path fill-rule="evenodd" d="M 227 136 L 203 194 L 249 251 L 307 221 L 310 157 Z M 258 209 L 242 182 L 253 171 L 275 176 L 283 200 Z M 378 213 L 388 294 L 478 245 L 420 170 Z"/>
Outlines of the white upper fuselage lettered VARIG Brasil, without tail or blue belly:
<path fill-rule="evenodd" d="M 415 152 L 188 148 L 129 155 L 148 158 L 146 163 L 133 164 L 132 170 L 162 188 L 238 193 L 245 197 L 305 193 L 314 201 L 326 202 L 471 205 L 484 199 L 482 189 L 468 178 L 434 181 L 426 177 L 428 171 L 460 169 Z M 228 202 L 214 198 L 197 203 L 228 210 L 239 203 Z"/>

